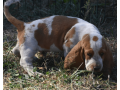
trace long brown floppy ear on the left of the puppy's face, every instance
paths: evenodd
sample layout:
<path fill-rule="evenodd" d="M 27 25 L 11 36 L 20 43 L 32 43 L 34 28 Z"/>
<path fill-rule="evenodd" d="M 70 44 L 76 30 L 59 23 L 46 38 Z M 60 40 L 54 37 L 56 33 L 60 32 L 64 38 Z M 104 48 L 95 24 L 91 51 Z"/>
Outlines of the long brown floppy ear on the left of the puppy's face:
<path fill-rule="evenodd" d="M 84 63 L 84 57 L 83 57 L 82 41 L 79 41 L 71 49 L 71 51 L 67 54 L 64 60 L 65 69 L 72 69 L 73 67 L 78 68 L 80 65 L 81 65 L 80 69 L 84 69 L 85 63 Z"/>

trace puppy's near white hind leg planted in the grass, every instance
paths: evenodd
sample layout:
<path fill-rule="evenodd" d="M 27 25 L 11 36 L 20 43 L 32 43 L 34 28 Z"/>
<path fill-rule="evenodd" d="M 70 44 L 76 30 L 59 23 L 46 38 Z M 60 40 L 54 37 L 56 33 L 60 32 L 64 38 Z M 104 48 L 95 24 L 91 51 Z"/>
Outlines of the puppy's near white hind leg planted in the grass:
<path fill-rule="evenodd" d="M 34 58 L 35 53 L 37 50 L 27 48 L 25 46 L 22 46 L 20 49 L 20 54 L 21 54 L 21 59 L 20 59 L 20 65 L 25 69 L 25 71 L 30 75 L 30 76 L 42 76 L 42 73 L 39 73 L 37 71 L 33 71 L 33 65 L 32 61 Z"/>

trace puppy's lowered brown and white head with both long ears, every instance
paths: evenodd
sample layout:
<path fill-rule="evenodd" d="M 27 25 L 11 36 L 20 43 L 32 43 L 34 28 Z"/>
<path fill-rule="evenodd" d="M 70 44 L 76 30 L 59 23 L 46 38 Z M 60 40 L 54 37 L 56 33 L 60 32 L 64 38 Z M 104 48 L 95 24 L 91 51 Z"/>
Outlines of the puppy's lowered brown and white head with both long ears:
<path fill-rule="evenodd" d="M 86 34 L 68 53 L 64 68 L 79 67 L 88 71 L 111 73 L 113 56 L 108 44 L 100 34 Z"/>

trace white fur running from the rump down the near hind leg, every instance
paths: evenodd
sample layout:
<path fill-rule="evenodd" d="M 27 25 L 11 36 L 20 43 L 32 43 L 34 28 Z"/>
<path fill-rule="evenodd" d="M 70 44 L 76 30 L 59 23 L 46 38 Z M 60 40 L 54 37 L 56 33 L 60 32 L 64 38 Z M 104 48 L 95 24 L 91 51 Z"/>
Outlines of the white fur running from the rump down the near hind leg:
<path fill-rule="evenodd" d="M 40 20 L 34 21 L 35 23 L 40 22 Z M 34 23 L 34 24 L 35 24 Z M 20 45 L 20 65 L 23 66 L 23 68 L 28 72 L 30 76 L 37 74 L 37 72 L 33 72 L 33 65 L 32 60 L 37 52 L 37 46 L 38 42 L 34 38 L 34 31 L 37 29 L 37 25 L 35 24 L 35 27 L 32 26 L 32 23 L 30 24 L 24 24 L 25 25 L 25 42 Z"/>

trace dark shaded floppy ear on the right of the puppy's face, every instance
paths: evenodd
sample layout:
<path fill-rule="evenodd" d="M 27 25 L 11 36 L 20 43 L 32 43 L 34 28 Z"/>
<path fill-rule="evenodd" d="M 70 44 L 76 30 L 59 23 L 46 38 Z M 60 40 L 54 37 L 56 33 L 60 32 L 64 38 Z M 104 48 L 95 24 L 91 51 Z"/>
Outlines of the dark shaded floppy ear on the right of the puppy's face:
<path fill-rule="evenodd" d="M 106 49 L 106 53 L 105 53 L 104 59 L 103 59 L 102 73 L 103 73 L 103 75 L 105 75 L 107 77 L 108 75 L 111 74 L 112 68 L 114 66 L 114 60 L 113 60 L 111 48 L 107 44 L 107 42 L 105 41 L 104 38 L 102 39 L 102 42 L 103 42 L 103 47 L 105 47 L 105 49 Z"/>

